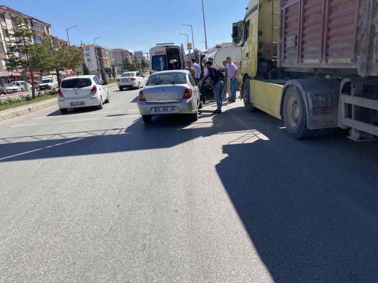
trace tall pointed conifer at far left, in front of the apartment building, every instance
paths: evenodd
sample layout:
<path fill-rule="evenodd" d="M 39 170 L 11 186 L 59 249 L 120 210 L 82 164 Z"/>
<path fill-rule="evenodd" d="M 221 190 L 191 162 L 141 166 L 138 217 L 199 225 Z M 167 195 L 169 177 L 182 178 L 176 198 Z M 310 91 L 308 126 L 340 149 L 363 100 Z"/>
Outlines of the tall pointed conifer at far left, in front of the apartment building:
<path fill-rule="evenodd" d="M 44 49 L 39 44 L 32 44 L 30 38 L 35 35 L 19 18 L 13 24 L 13 33 L 9 33 L 10 43 L 6 60 L 7 69 L 10 71 L 29 71 L 32 78 L 32 97 L 35 98 L 33 71 L 43 71 L 50 65 L 50 58 L 46 56 Z"/>

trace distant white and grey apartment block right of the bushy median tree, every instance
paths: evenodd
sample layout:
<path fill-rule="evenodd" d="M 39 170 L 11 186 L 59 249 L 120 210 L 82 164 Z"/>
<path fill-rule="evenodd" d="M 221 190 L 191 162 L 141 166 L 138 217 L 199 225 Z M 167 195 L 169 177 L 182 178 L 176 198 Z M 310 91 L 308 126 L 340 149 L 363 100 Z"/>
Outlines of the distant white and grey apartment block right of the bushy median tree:
<path fill-rule="evenodd" d="M 91 74 L 100 75 L 100 64 L 104 65 L 105 73 L 111 73 L 114 64 L 111 49 L 95 44 L 81 44 L 77 46 L 83 52 L 84 62 Z M 82 70 L 80 70 L 82 71 Z"/>

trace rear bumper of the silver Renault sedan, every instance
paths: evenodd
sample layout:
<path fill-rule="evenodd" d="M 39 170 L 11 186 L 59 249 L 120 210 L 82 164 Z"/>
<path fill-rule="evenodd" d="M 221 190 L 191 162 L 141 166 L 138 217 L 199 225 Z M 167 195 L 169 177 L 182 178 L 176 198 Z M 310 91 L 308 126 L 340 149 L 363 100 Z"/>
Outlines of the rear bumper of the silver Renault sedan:
<path fill-rule="evenodd" d="M 172 114 L 191 114 L 196 113 L 197 105 L 193 98 L 184 99 L 177 102 L 168 103 L 151 103 L 147 101 L 138 101 L 137 103 L 140 115 L 172 115 Z M 174 112 L 155 112 L 155 107 L 175 107 Z"/>

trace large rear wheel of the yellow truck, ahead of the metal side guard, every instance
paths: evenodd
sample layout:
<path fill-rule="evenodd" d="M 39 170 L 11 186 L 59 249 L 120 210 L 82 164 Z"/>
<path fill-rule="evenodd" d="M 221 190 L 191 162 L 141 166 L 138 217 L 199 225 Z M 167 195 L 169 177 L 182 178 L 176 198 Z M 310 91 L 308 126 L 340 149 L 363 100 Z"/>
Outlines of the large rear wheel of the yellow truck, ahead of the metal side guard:
<path fill-rule="evenodd" d="M 309 138 L 317 132 L 307 127 L 307 113 L 303 97 L 293 86 L 290 86 L 285 94 L 284 122 L 286 132 L 294 139 Z"/>

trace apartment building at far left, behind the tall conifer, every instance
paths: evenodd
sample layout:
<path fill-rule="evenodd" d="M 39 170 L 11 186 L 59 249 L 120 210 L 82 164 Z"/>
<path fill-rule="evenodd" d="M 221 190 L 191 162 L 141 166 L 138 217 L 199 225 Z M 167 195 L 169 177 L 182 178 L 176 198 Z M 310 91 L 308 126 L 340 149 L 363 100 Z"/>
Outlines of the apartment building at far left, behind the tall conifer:
<path fill-rule="evenodd" d="M 36 33 L 33 38 L 30 38 L 31 43 L 40 43 L 45 34 L 51 35 L 51 24 L 13 10 L 8 6 L 0 5 L 0 84 L 19 80 L 21 76 L 20 72 L 10 72 L 6 70 L 6 53 L 8 52 L 8 48 L 12 45 L 9 35 L 12 34 L 14 24 L 19 18 L 28 28 L 32 28 Z M 40 80 L 40 73 L 35 72 L 34 77 L 35 80 Z M 22 79 L 30 79 L 30 73 L 27 73 Z"/>

